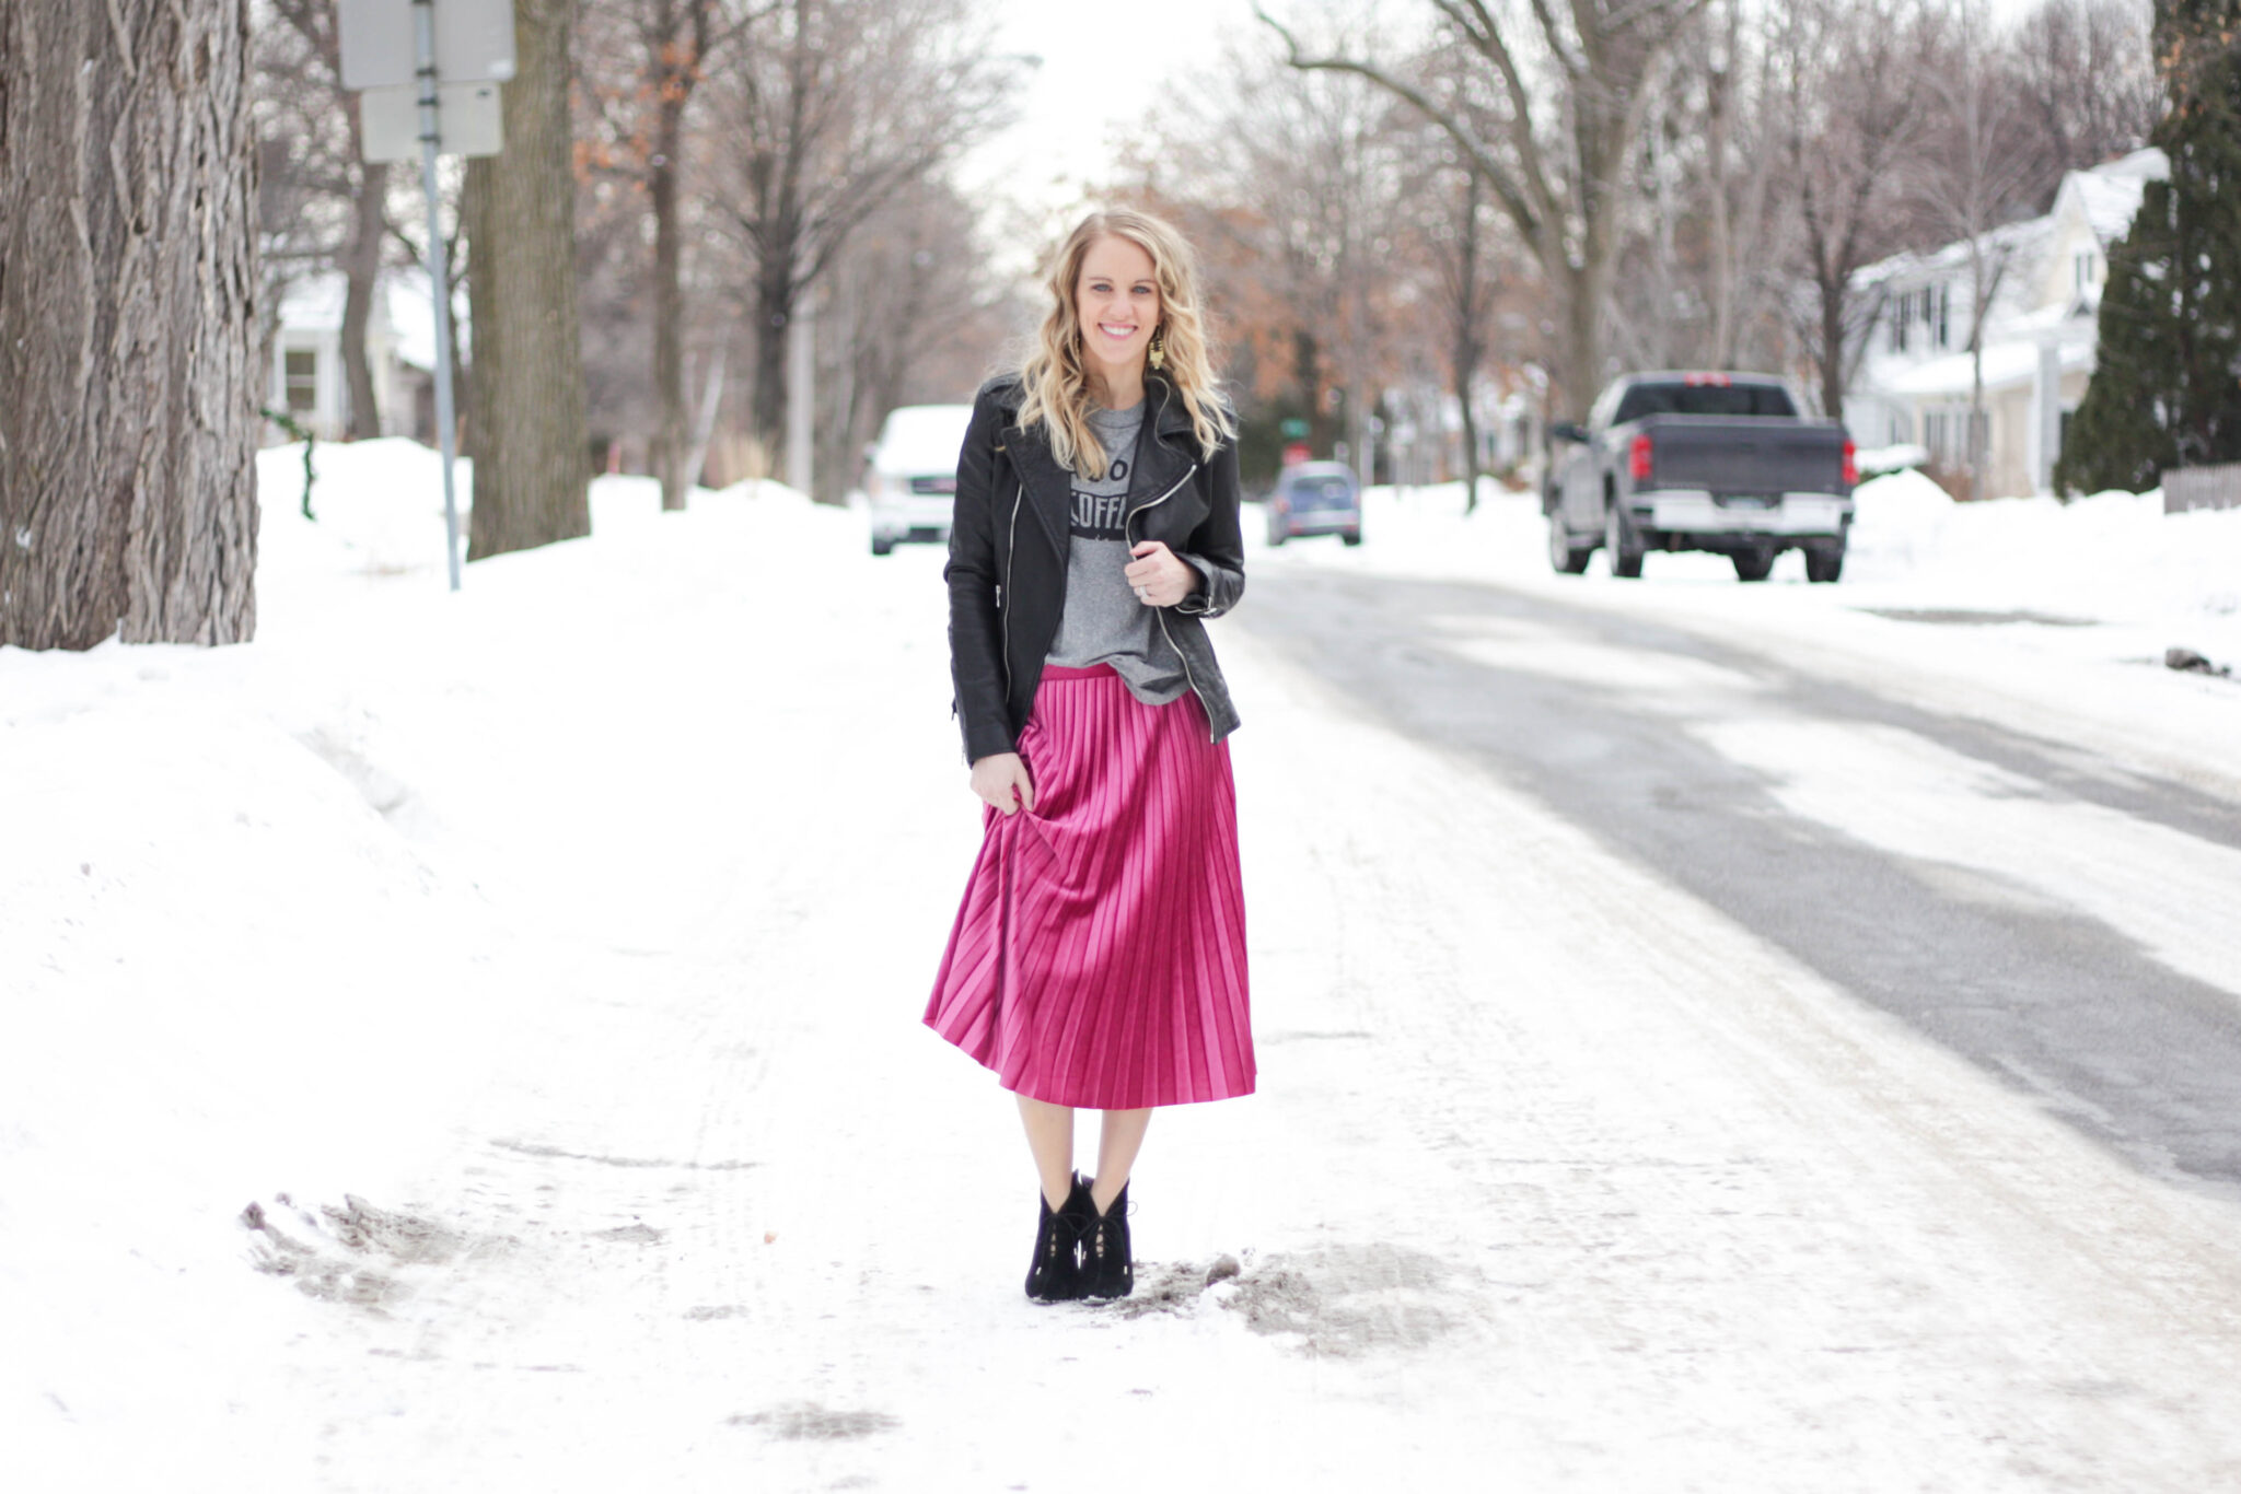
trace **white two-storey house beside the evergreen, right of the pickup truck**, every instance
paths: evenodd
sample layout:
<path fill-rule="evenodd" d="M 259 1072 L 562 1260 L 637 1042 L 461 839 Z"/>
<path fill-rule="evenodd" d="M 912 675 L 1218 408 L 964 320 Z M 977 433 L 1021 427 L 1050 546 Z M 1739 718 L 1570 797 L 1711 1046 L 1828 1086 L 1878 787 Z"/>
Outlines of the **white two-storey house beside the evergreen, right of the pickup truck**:
<path fill-rule="evenodd" d="M 2046 217 L 1977 240 L 1988 280 L 1997 276 L 1983 318 L 1986 497 L 2048 491 L 2093 374 L 2109 244 L 2131 228 L 2147 184 L 2167 175 L 2154 148 L 2073 170 Z M 1860 446 L 1918 443 L 1936 468 L 1968 464 L 1970 258 L 1970 242 L 1956 240 L 1853 276 L 1853 291 L 1882 307 L 1844 394 L 1844 426 Z"/>

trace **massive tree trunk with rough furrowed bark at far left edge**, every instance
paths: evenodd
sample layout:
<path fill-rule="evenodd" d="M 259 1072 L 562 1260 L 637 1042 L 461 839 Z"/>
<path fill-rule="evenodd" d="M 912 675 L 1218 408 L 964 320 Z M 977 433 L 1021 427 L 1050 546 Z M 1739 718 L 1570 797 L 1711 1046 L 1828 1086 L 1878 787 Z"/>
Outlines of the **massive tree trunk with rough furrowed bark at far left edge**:
<path fill-rule="evenodd" d="M 0 645 L 255 632 L 249 0 L 0 4 Z"/>

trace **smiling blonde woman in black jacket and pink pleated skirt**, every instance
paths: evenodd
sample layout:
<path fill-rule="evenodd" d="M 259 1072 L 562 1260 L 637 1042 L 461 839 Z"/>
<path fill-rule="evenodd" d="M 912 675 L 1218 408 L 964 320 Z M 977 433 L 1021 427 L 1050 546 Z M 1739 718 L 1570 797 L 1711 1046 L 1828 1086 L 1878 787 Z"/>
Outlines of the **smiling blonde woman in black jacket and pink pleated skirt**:
<path fill-rule="evenodd" d="M 1190 246 L 1091 213 L 1049 291 L 957 455 L 950 670 L 986 838 L 926 1024 L 1017 1095 L 1042 1183 L 1026 1295 L 1064 1301 L 1134 1286 L 1152 1109 L 1253 1093 L 1237 710 L 1203 627 L 1246 578 Z M 1076 1109 L 1105 1113 L 1089 1178 Z"/>

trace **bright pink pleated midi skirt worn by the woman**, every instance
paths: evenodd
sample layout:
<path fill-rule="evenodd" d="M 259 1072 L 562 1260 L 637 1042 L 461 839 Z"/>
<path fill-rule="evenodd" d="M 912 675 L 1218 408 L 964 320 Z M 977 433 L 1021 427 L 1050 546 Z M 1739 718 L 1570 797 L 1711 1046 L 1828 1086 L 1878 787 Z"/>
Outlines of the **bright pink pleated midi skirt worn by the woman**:
<path fill-rule="evenodd" d="M 1199 697 L 1044 667 L 1033 813 L 986 811 L 926 1024 L 1031 1100 L 1098 1111 L 1253 1093 L 1230 748 Z"/>

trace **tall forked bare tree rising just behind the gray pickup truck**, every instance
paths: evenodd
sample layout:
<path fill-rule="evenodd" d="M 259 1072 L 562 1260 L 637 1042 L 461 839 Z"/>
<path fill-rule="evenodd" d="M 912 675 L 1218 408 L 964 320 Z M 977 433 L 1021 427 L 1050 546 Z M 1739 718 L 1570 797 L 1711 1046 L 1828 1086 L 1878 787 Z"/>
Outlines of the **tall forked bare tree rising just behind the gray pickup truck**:
<path fill-rule="evenodd" d="M 1629 199 L 1629 152 L 1674 29 L 1705 0 L 1531 0 L 1535 25 L 1504 22 L 1486 0 L 1430 0 L 1475 67 L 1436 96 L 1403 69 L 1354 56 L 1313 56 L 1266 11 L 1293 67 L 1354 72 L 1416 105 L 1486 179 L 1519 240 L 1557 291 L 1564 316 L 1569 414 L 1584 417 L 1602 379 L 1611 273 Z M 1533 63 L 1540 49 L 1540 85 Z"/>

